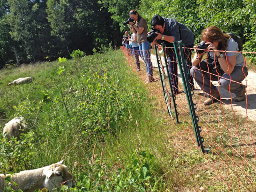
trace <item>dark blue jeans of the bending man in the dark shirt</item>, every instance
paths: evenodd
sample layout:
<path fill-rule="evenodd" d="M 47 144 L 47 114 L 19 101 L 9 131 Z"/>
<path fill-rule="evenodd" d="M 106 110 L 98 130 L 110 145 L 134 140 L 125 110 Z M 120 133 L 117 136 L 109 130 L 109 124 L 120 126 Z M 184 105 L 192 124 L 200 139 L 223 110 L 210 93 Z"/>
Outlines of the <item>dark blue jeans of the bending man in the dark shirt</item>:
<path fill-rule="evenodd" d="M 187 48 L 193 48 L 194 45 L 190 46 L 185 46 Z M 172 78 L 172 89 L 174 90 L 174 94 L 177 94 L 179 91 L 178 89 L 178 63 L 177 63 L 177 58 L 175 55 L 174 48 L 168 48 L 168 63 L 169 63 L 169 74 L 170 77 Z M 190 72 L 190 68 L 192 67 L 191 64 L 191 55 L 192 51 L 190 49 L 184 49 L 184 59 L 185 61 L 187 60 L 187 70 Z M 194 89 L 194 80 L 191 77 L 190 74 L 188 74 L 188 82 L 190 85 L 190 89 Z"/>

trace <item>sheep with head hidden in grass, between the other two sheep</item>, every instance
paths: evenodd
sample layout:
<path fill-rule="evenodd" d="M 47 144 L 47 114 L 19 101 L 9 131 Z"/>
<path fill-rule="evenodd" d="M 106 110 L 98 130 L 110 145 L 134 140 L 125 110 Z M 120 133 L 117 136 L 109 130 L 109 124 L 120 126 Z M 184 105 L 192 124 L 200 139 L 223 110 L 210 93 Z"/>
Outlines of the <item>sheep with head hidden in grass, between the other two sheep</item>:
<path fill-rule="evenodd" d="M 3 133 L 7 132 L 6 137 L 8 139 L 12 137 L 20 138 L 21 133 L 30 131 L 30 127 L 23 121 L 22 117 L 16 117 L 5 124 Z"/>

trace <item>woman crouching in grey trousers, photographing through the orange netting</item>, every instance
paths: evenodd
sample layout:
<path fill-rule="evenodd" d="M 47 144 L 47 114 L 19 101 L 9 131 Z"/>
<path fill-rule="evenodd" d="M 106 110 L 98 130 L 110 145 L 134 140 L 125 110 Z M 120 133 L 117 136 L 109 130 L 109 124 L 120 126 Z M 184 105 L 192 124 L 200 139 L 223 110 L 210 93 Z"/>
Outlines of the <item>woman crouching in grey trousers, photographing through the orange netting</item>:
<path fill-rule="evenodd" d="M 247 76 L 248 70 L 242 53 L 237 52 L 238 44 L 230 35 L 223 33 L 216 26 L 204 29 L 201 40 L 203 42 L 200 46 L 194 46 L 196 54 L 192 59 L 193 67 L 190 74 L 200 88 L 208 94 L 204 105 L 210 105 L 214 101 L 220 100 L 220 93 L 211 80 L 219 81 L 220 86 L 234 93 L 236 95 L 235 102 L 245 100 L 245 86 L 241 82 Z M 207 50 L 198 50 L 202 47 Z M 206 60 L 201 61 L 205 53 L 207 53 Z M 212 74 L 204 72 L 205 69 L 207 69 L 206 71 L 209 69 Z"/>

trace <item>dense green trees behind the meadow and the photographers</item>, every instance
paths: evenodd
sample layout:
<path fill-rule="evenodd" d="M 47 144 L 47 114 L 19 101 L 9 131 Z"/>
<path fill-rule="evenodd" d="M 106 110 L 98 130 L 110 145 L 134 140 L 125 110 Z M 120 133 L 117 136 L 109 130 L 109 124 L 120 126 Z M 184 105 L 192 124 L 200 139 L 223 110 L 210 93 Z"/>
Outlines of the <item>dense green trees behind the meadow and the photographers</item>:
<path fill-rule="evenodd" d="M 155 14 L 175 18 L 198 42 L 204 28 L 216 25 L 241 36 L 243 51 L 256 51 L 255 0 L 0 0 L 0 6 L 0 67 L 118 47 L 131 9 L 149 28 Z"/>

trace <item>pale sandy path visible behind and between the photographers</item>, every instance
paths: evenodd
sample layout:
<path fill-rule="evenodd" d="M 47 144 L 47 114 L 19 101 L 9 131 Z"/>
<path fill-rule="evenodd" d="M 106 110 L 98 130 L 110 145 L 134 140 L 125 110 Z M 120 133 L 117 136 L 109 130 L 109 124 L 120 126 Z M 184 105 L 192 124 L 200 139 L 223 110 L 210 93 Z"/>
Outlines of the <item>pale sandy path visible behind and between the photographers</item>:
<path fill-rule="evenodd" d="M 161 57 L 162 63 L 164 65 L 164 58 Z M 152 55 L 152 64 L 154 68 L 158 68 L 156 63 L 156 58 Z M 178 71 L 180 76 L 180 72 Z M 181 81 L 181 78 L 179 78 Z M 182 83 L 182 82 L 180 82 Z M 213 82 L 215 86 L 218 86 L 218 82 Z M 244 116 L 248 116 L 248 119 L 256 121 L 256 74 L 254 72 L 248 72 L 248 76 L 242 81 L 242 84 L 246 86 L 246 100 L 241 102 L 234 101 L 234 94 L 231 94 L 227 90 L 222 87 L 219 87 L 221 94 L 221 101 L 225 103 L 227 106 L 232 107 L 234 111 L 240 112 L 240 114 Z M 200 89 L 200 87 L 195 84 L 195 88 Z M 202 93 L 202 91 L 200 91 Z M 231 102 L 231 98 L 232 102 Z"/>

